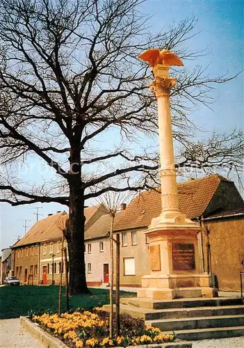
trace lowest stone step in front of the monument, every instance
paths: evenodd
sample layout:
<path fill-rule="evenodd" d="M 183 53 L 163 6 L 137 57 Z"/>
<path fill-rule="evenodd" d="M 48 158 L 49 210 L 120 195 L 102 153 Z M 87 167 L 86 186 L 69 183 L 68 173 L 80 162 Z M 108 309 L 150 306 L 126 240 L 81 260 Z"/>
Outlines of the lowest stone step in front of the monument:
<path fill-rule="evenodd" d="M 172 331 L 163 331 L 163 334 L 172 334 Z M 213 338 L 228 338 L 244 336 L 244 326 L 228 326 L 211 329 L 177 330 L 174 331 L 181 340 L 210 340 Z M 207 346 L 206 347 L 210 347 Z M 244 347 L 244 337 L 243 337 Z M 225 347 L 223 347 L 225 348 Z"/>

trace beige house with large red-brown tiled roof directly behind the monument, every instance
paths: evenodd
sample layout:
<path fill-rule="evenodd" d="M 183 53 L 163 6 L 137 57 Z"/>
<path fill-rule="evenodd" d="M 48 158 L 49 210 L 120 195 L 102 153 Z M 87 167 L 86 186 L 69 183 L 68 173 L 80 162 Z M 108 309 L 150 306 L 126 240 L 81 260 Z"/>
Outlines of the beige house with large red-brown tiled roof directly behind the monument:
<path fill-rule="evenodd" d="M 179 183 L 177 189 L 181 212 L 203 226 L 199 234 L 202 271 L 215 274 L 220 290 L 239 290 L 244 203 L 234 182 L 209 175 Z M 121 285 L 140 286 L 141 277 L 150 274 L 149 241 L 144 232 L 160 212 L 160 192 L 145 191 L 131 201 L 115 224 L 115 232 L 121 234 Z"/>

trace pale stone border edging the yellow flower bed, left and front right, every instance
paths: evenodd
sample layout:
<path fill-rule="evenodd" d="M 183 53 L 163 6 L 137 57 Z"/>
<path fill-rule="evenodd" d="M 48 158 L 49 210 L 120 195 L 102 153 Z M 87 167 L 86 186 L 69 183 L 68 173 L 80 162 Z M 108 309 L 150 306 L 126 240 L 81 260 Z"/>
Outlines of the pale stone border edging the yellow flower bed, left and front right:
<path fill-rule="evenodd" d="M 29 317 L 19 317 L 20 324 L 31 333 L 31 335 L 38 338 L 42 345 L 47 348 L 68 348 L 62 341 L 58 338 L 50 335 L 46 331 L 42 330 L 38 324 L 31 322 Z M 140 345 L 140 346 L 128 346 L 127 348 L 192 348 L 193 344 L 186 341 L 174 341 L 168 343 L 154 344 L 154 345 Z M 121 347 L 113 347 L 121 348 Z"/>

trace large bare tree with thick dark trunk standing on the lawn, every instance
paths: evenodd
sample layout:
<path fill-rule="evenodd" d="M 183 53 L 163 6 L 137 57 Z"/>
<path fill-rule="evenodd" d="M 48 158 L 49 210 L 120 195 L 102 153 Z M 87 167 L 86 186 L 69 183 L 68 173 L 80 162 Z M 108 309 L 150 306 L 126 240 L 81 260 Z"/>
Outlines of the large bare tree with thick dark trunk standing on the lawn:
<path fill-rule="evenodd" d="M 157 120 L 154 95 L 147 90 L 152 77 L 138 54 L 160 47 L 183 59 L 197 56 L 182 49 L 193 38 L 195 19 L 152 35 L 140 3 L 0 3 L 1 202 L 69 207 L 70 294 L 88 292 L 85 200 L 148 188 L 158 169 L 156 155 L 139 145 L 143 136 L 156 134 Z M 204 74 L 201 67 L 174 70 L 179 81 L 172 91 L 174 138 L 186 149 L 190 104 L 206 104 L 212 85 L 227 81 Z M 104 139 L 111 139 L 106 147 Z M 55 180 L 24 182 L 16 163 L 29 166 L 32 157 L 53 168 Z M 108 184 L 113 177 L 118 187 Z"/>

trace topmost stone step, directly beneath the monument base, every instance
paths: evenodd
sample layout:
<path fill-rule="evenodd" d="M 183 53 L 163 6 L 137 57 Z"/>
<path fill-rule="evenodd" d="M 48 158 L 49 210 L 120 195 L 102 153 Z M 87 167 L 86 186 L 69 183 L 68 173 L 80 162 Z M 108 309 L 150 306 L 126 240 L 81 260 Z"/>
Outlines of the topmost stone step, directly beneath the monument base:
<path fill-rule="evenodd" d="M 196 298 L 196 299 L 173 299 L 173 300 L 152 300 L 148 298 L 127 297 L 120 299 L 120 303 L 124 305 L 147 308 L 147 309 L 166 309 L 166 308 L 196 308 L 196 307 L 212 307 L 212 306 L 236 306 L 242 305 L 243 299 L 229 299 L 226 297 Z"/>

